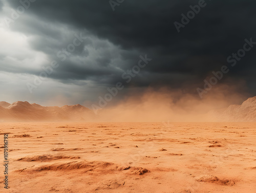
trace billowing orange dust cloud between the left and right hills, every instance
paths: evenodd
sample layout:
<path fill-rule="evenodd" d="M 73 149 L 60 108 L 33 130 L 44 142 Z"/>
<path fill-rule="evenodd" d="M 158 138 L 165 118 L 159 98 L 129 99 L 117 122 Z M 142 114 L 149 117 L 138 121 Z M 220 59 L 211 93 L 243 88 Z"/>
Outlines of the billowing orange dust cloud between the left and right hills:
<path fill-rule="evenodd" d="M 96 111 L 104 121 L 237 121 L 234 112 L 227 111 L 230 105 L 239 106 L 247 100 L 244 94 L 225 90 L 219 87 L 214 95 L 206 95 L 201 99 L 198 95 L 184 93 L 181 90 L 147 89 L 141 94 L 131 94 L 118 104 L 106 106 Z M 247 101 L 247 107 L 253 112 L 256 105 L 253 98 Z M 239 114 L 240 109 L 236 110 Z M 254 111 L 255 112 L 255 111 Z M 240 121 L 253 121 L 253 115 L 248 117 L 245 112 Z"/>

